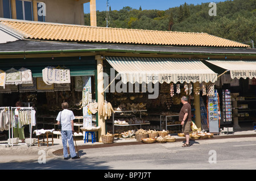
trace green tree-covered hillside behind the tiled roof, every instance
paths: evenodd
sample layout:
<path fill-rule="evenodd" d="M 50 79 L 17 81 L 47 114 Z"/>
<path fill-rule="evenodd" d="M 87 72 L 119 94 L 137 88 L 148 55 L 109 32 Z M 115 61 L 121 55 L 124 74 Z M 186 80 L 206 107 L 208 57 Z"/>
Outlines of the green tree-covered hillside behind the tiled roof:
<path fill-rule="evenodd" d="M 109 10 L 108 27 L 143 30 L 206 32 L 226 39 L 256 44 L 256 0 L 218 2 L 217 15 L 208 14 L 209 3 L 172 7 L 166 11 L 143 10 L 129 6 L 117 11 Z M 90 25 L 90 15 L 85 14 L 85 25 Z M 97 26 L 106 27 L 106 11 L 97 11 Z M 246 43 L 252 46 L 252 43 Z"/>

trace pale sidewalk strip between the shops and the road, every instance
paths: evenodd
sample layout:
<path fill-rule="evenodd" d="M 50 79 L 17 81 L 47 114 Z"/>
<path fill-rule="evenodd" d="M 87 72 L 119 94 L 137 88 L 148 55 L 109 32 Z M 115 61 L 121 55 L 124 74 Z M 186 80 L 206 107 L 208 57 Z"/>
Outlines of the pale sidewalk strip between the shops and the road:
<path fill-rule="evenodd" d="M 184 137 L 179 137 L 179 136 L 174 136 L 174 137 L 176 138 L 176 142 L 185 141 Z M 216 140 L 216 141 L 224 142 L 226 138 L 241 138 L 241 137 L 256 137 L 256 132 L 254 130 L 251 130 L 251 131 L 237 131 L 237 132 L 234 132 L 234 134 L 221 133 L 219 135 L 214 135 L 213 138 L 199 139 L 197 141 L 204 140 L 204 142 L 207 142 L 207 140 Z M 51 138 L 49 139 L 51 140 Z M 139 145 L 139 144 L 143 144 L 143 143 L 138 142 L 135 138 L 115 138 L 113 144 L 103 144 L 102 142 L 92 143 L 92 141 L 90 140 L 85 143 L 84 140 L 82 140 L 82 136 L 76 137 L 76 145 L 78 150 L 103 148 L 108 146 Z M 172 142 L 167 144 L 172 144 Z M 42 143 L 40 143 L 39 146 L 37 143 L 32 146 L 28 146 L 28 145 L 9 146 L 7 141 L 0 141 L 0 155 L 30 155 L 30 154 L 38 155 L 39 150 L 44 150 L 46 151 L 47 156 L 56 157 L 56 156 L 63 155 L 62 149 L 63 149 L 63 145 L 60 138 L 53 138 L 53 145 L 52 145 L 52 142 L 49 142 L 48 147 L 47 147 L 47 144 L 44 144 L 43 146 Z"/>

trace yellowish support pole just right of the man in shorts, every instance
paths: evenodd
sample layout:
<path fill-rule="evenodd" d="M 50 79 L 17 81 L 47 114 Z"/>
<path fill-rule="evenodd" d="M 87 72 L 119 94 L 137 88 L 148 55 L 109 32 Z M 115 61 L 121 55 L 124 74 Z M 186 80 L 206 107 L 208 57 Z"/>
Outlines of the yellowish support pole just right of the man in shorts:
<path fill-rule="evenodd" d="M 194 87 L 194 90 L 200 89 L 200 83 L 195 82 L 193 87 Z M 195 124 L 198 129 L 201 129 L 200 95 L 195 94 L 195 91 L 194 91 L 194 104 L 195 104 L 194 106 L 195 106 L 195 115 L 196 115 Z"/>

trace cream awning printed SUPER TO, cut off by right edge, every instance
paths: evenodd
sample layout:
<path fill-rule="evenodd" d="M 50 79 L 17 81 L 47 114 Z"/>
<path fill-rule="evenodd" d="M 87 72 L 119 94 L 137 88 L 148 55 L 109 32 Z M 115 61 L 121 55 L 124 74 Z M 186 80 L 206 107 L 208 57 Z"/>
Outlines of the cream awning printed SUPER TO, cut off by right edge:
<path fill-rule="evenodd" d="M 230 71 L 233 78 L 256 78 L 256 60 L 206 60 L 210 64 Z"/>

